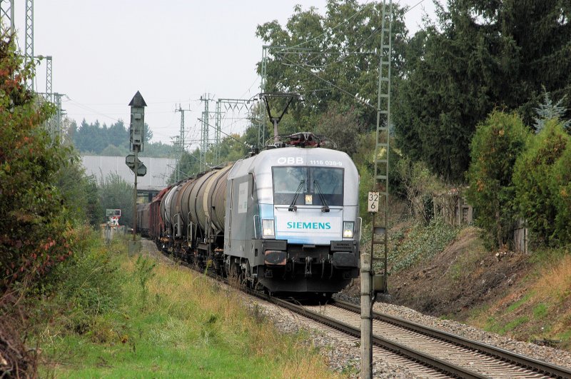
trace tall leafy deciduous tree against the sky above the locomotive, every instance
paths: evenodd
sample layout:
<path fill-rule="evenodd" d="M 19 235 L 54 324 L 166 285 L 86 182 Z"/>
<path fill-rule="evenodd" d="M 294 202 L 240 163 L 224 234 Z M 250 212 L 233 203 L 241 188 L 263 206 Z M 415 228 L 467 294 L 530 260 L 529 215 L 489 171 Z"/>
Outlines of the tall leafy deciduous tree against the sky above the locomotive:
<path fill-rule="evenodd" d="M 393 4 L 393 74 L 397 78 L 408 33 L 404 12 Z M 268 45 L 282 46 L 268 51 L 266 91 L 303 96 L 303 103 L 293 104 L 292 114 L 305 131 L 333 102 L 343 104 L 343 111 L 355 107 L 363 123 L 372 128 L 375 106 L 365 103 L 377 102 L 379 57 L 373 52 L 380 46 L 381 19 L 381 3 L 328 0 L 325 16 L 314 8 L 304 11 L 295 6 L 285 28 L 278 21 L 259 25 L 257 36 Z M 261 70 L 262 62 L 258 73 Z M 364 101 L 358 101 L 357 94 Z"/>

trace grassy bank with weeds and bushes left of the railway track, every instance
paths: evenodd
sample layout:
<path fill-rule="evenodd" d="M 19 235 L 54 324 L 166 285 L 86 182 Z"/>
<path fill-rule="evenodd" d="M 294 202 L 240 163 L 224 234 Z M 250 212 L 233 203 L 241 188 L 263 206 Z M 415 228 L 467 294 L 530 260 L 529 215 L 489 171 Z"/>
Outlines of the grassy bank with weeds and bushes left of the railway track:
<path fill-rule="evenodd" d="M 39 325 L 41 375 L 66 377 L 330 378 L 324 358 L 283 335 L 241 295 L 156 258 L 86 243 Z M 98 303 L 99 302 L 99 303 Z"/>

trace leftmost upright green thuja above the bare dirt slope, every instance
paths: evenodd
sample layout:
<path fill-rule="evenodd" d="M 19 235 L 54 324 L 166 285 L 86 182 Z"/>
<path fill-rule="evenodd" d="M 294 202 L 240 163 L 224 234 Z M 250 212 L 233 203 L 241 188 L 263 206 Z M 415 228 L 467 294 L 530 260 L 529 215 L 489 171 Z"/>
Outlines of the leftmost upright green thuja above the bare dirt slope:
<path fill-rule="evenodd" d="M 515 221 L 515 161 L 525 149 L 530 131 L 515 113 L 493 111 L 480 123 L 470 143 L 470 187 L 466 196 L 477 210 L 476 223 L 490 236 L 486 241 L 502 247 Z"/>

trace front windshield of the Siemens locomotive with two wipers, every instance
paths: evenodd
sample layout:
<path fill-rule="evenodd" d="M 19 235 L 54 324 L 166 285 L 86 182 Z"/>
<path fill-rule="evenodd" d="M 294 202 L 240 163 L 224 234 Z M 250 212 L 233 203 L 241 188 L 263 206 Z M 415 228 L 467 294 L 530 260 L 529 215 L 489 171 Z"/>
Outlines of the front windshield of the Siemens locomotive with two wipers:
<path fill-rule="evenodd" d="M 273 167 L 272 174 L 274 204 L 343 206 L 343 168 Z"/>

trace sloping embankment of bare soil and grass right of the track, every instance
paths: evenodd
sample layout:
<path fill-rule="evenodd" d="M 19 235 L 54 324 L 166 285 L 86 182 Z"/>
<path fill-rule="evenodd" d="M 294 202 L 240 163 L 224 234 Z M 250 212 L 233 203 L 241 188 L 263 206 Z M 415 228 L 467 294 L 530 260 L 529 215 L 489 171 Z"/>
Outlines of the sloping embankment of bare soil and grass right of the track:
<path fill-rule="evenodd" d="M 477 228 L 438 222 L 390 237 L 390 292 L 398 303 L 571 350 L 570 248 L 488 251 Z"/>

